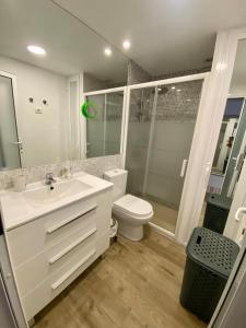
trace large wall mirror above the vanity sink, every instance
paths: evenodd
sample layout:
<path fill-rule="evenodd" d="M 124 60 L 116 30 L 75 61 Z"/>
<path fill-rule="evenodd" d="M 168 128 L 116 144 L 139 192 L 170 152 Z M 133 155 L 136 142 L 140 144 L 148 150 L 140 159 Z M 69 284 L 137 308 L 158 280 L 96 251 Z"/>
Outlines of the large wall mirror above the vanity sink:
<path fill-rule="evenodd" d="M 0 171 L 119 153 L 124 91 L 80 109 L 126 84 L 127 57 L 54 1 L 0 4 Z"/>

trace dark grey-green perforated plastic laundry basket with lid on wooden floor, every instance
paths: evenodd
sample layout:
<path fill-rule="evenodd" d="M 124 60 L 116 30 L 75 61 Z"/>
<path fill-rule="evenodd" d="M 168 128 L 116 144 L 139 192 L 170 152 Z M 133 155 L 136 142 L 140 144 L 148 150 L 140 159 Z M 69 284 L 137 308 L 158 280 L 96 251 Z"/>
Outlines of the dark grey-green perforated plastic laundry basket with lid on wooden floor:
<path fill-rule="evenodd" d="M 239 247 L 206 227 L 196 227 L 186 247 L 181 305 L 209 323 L 224 290 Z"/>

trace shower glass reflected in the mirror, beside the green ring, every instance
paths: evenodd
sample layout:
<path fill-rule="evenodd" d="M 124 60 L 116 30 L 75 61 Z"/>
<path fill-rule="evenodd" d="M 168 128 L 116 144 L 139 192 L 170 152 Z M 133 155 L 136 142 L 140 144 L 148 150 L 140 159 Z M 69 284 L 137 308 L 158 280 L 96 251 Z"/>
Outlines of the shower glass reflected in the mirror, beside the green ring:
<path fill-rule="evenodd" d="M 120 153 L 124 91 L 86 96 L 92 116 L 86 120 L 86 156 Z"/>

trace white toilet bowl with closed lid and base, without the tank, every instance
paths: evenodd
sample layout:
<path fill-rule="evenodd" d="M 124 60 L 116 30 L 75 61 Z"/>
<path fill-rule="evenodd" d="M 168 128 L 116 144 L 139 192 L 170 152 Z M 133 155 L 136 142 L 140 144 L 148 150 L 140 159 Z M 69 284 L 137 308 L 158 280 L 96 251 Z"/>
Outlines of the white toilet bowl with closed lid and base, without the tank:
<path fill-rule="evenodd" d="M 152 206 L 132 195 L 125 195 L 113 204 L 113 214 L 118 221 L 118 233 L 131 241 L 143 237 L 143 224 L 153 216 Z"/>

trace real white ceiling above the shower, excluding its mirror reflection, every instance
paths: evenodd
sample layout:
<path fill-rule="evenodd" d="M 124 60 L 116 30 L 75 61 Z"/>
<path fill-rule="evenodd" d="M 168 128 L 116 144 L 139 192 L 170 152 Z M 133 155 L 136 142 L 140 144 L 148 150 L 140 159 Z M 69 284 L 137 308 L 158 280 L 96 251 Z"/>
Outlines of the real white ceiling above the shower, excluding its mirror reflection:
<path fill-rule="evenodd" d="M 54 0 L 159 75 L 208 66 L 215 34 L 246 24 L 245 0 Z"/>

